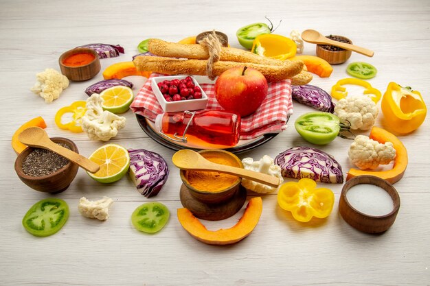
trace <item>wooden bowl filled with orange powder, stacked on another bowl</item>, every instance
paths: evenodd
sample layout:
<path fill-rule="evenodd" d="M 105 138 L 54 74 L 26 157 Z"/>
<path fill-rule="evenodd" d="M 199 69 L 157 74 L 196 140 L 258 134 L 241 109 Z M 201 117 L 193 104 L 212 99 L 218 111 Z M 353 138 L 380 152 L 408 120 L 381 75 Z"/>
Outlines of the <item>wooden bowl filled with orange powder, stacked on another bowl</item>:
<path fill-rule="evenodd" d="M 213 163 L 243 168 L 242 161 L 225 150 L 201 150 L 201 156 Z M 206 204 L 218 204 L 231 198 L 240 187 L 242 178 L 216 171 L 180 171 L 181 180 L 190 194 Z"/>

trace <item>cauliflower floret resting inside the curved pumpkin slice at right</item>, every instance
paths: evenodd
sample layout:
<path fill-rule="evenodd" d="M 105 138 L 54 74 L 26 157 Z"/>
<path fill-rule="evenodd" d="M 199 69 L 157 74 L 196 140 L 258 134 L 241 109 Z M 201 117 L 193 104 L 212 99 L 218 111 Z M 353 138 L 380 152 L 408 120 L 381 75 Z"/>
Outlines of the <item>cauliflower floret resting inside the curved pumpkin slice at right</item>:
<path fill-rule="evenodd" d="M 393 143 L 381 144 L 367 136 L 358 135 L 350 146 L 348 156 L 352 164 L 360 169 L 376 169 L 378 165 L 387 165 L 396 158 Z"/>

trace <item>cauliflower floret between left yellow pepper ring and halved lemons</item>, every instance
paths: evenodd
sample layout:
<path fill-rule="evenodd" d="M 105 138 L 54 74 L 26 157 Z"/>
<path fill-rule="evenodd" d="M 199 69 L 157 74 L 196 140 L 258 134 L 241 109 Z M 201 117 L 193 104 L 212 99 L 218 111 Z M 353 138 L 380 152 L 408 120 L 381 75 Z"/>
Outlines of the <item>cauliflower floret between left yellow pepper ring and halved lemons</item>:
<path fill-rule="evenodd" d="M 103 99 L 93 93 L 87 99 L 87 112 L 82 117 L 82 130 L 91 140 L 109 141 L 117 136 L 118 130 L 126 126 L 126 118 L 103 110 Z"/>

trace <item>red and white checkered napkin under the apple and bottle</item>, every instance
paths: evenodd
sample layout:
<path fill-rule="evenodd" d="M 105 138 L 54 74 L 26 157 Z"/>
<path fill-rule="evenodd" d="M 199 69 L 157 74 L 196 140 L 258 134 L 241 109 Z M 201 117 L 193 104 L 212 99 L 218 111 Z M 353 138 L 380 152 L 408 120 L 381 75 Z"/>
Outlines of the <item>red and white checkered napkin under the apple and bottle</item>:
<path fill-rule="evenodd" d="M 133 112 L 152 121 L 163 109 L 152 92 L 150 79 L 160 76 L 152 73 L 148 81 L 142 86 L 135 100 L 131 104 Z M 223 109 L 215 99 L 214 84 L 201 84 L 209 100 L 207 109 Z M 240 139 L 254 139 L 266 133 L 282 132 L 286 128 L 288 117 L 293 114 L 293 101 L 291 99 L 291 80 L 269 83 L 267 97 L 253 114 L 242 117 L 240 125 Z"/>

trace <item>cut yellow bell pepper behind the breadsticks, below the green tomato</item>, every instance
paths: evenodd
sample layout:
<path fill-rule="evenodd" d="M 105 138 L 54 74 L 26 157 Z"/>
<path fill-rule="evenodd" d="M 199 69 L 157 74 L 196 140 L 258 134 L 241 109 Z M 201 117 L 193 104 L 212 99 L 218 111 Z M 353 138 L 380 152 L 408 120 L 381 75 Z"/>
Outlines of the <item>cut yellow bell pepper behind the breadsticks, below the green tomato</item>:
<path fill-rule="evenodd" d="M 297 45 L 291 38 L 275 34 L 262 34 L 253 41 L 251 52 L 267 58 L 286 60 L 293 58 Z"/>

